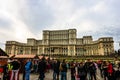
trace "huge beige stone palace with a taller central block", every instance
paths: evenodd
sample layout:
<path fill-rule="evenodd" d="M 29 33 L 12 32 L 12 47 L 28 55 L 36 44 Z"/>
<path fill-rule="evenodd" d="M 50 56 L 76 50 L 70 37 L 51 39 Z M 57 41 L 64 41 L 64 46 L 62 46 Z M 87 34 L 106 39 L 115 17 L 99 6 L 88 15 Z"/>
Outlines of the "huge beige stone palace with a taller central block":
<path fill-rule="evenodd" d="M 101 37 L 93 41 L 92 36 L 77 38 L 76 29 L 43 30 L 42 40 L 28 38 L 27 43 L 6 41 L 7 54 L 91 56 L 114 53 L 113 37 Z"/>

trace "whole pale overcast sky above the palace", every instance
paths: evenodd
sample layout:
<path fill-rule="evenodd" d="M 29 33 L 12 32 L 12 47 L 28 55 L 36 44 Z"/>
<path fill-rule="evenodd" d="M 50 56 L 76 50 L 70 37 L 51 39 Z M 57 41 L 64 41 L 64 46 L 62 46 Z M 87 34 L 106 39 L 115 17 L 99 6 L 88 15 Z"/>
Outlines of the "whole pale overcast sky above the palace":
<path fill-rule="evenodd" d="M 0 48 L 42 39 L 43 30 L 77 29 L 77 37 L 120 41 L 120 0 L 0 0 Z"/>

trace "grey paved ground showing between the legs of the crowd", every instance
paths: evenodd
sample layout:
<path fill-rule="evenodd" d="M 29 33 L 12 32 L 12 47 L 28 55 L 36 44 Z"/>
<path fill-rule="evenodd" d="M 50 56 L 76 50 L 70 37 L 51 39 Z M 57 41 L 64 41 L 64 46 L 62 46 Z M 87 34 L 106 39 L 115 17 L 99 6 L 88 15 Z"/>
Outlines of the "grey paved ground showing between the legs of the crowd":
<path fill-rule="evenodd" d="M 53 72 L 50 71 L 49 73 L 47 72 L 45 74 L 45 80 L 52 80 L 52 74 Z M 38 80 L 38 74 L 31 74 L 30 75 L 30 80 Z M 20 74 L 20 80 L 22 80 L 22 74 Z M 67 80 L 71 80 L 70 78 L 70 70 L 68 70 L 67 72 Z M 103 80 L 101 77 L 100 77 L 100 74 L 99 74 L 99 70 L 97 70 L 97 80 Z"/>

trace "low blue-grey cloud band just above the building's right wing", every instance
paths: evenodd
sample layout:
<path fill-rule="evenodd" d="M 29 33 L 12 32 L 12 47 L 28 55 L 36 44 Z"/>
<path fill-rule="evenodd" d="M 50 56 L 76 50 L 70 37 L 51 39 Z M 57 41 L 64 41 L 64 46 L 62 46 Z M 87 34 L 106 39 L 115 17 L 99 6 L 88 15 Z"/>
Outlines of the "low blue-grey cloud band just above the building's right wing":
<path fill-rule="evenodd" d="M 93 40 L 97 40 L 100 37 L 113 37 L 115 43 L 120 41 L 120 28 L 119 26 L 108 26 L 108 27 L 102 27 L 99 28 L 97 31 L 84 31 L 84 32 L 78 32 L 78 36 L 86 36 L 91 35 L 93 36 Z"/>

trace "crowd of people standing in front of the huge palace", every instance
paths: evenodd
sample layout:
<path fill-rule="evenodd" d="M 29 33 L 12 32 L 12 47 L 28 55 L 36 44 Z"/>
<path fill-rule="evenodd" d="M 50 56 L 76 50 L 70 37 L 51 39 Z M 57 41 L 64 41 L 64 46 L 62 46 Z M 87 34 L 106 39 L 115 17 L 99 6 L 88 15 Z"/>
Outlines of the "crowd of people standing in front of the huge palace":
<path fill-rule="evenodd" d="M 39 74 L 38 80 L 45 79 L 45 73 L 49 70 L 53 72 L 53 80 L 68 80 L 67 72 L 70 70 L 71 80 L 97 80 L 97 71 L 100 71 L 100 77 L 103 80 L 120 80 L 120 61 L 114 63 L 110 61 L 86 61 L 75 62 L 75 60 L 66 62 L 58 59 L 40 60 L 27 59 L 25 64 L 22 64 L 17 59 L 8 59 L 7 64 L 3 66 L 3 79 L 0 80 L 19 80 L 19 70 L 23 67 L 23 80 L 30 80 L 31 73 Z"/>

